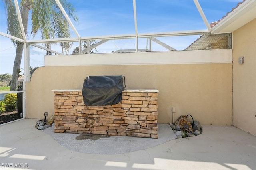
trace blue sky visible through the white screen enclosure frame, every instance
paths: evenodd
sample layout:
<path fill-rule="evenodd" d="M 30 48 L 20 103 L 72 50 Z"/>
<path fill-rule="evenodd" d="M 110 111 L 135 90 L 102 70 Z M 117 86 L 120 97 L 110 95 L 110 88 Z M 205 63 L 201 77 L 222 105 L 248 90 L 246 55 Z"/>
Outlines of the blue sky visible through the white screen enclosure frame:
<path fill-rule="evenodd" d="M 199 0 L 209 23 L 226 15 L 242 0 Z M 20 2 L 20 1 L 19 1 Z M 134 34 L 134 14 L 132 0 L 68 0 L 76 9 L 79 18 L 74 23 L 80 36 L 106 36 L 115 34 Z M 204 22 L 192 0 L 137 0 L 138 33 L 168 32 L 180 30 L 206 29 Z M 0 31 L 6 33 L 6 14 L 4 4 L 0 2 Z M 28 24 L 30 33 L 31 21 Z M 76 35 L 73 34 L 73 37 Z M 172 37 L 166 41 L 168 45 L 182 50 L 199 36 Z M 35 39 L 39 39 L 37 35 Z M 29 38 L 31 39 L 31 38 Z M 146 48 L 146 38 L 141 39 L 139 48 Z M 134 40 L 113 40 L 99 50 L 133 49 Z M 74 43 L 70 53 L 78 46 Z M 61 52 L 58 45 L 52 49 Z M 110 52 L 111 52 L 110 50 Z M 161 48 L 158 49 L 161 51 Z M 0 74 L 12 73 L 15 47 L 9 38 L 0 36 Z M 30 65 L 43 66 L 45 51 L 38 48 L 30 49 Z M 23 62 L 21 68 L 23 68 Z"/>

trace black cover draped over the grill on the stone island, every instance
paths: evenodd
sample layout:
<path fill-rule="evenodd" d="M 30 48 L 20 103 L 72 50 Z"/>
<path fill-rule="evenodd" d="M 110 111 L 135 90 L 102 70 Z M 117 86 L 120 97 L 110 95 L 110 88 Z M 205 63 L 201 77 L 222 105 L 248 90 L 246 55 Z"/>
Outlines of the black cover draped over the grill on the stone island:
<path fill-rule="evenodd" d="M 84 104 L 105 106 L 119 103 L 125 89 L 124 75 L 88 76 L 84 79 Z"/>

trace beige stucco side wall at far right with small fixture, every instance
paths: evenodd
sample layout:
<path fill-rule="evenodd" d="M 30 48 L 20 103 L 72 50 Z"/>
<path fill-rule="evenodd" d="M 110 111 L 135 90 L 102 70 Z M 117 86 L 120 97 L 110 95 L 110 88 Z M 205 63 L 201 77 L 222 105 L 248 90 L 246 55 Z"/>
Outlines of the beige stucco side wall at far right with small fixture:
<path fill-rule="evenodd" d="M 233 125 L 256 136 L 256 19 L 233 32 Z M 244 63 L 238 58 L 244 56 Z"/>

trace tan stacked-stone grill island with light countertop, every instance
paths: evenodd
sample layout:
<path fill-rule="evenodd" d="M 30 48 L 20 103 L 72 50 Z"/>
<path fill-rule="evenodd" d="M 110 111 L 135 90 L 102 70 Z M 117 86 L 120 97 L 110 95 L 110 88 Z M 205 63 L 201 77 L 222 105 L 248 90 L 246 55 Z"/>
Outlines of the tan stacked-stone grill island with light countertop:
<path fill-rule="evenodd" d="M 52 90 L 56 133 L 158 138 L 156 89 L 125 89 L 114 105 L 87 106 L 82 90 Z"/>

